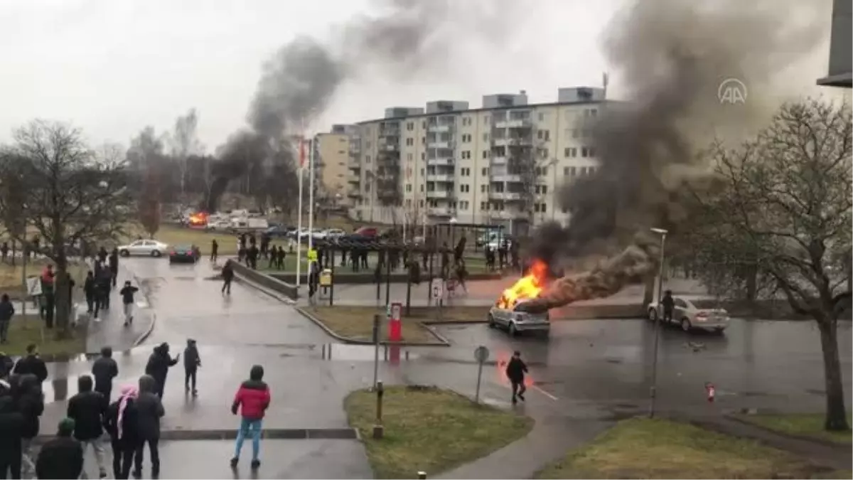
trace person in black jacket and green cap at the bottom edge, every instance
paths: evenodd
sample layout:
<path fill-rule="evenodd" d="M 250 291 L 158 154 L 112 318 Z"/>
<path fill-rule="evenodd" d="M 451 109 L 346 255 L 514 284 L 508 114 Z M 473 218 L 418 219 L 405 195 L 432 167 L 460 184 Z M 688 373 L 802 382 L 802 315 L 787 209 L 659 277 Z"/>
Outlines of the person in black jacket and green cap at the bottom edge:
<path fill-rule="evenodd" d="M 83 446 L 72 438 L 74 420 L 62 419 L 56 437 L 38 453 L 38 480 L 77 480 L 83 475 Z"/>

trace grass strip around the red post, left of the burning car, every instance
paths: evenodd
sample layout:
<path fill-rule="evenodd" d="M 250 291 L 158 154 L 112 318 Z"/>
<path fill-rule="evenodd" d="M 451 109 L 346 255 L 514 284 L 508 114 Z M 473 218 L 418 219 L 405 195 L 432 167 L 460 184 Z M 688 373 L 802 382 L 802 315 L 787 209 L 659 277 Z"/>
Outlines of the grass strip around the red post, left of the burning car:
<path fill-rule="evenodd" d="M 311 307 L 308 311 L 341 337 L 367 341 L 373 337 L 373 317 L 377 312 L 374 307 Z M 485 322 L 488 311 L 489 307 L 444 307 L 443 319 Z M 404 313 L 405 307 L 403 307 L 403 341 L 438 343 L 432 333 L 421 325 L 423 321 L 438 321 L 434 309 L 412 307 L 411 315 L 407 316 Z M 381 315 L 380 338 L 387 340 L 388 331 L 384 311 Z"/>

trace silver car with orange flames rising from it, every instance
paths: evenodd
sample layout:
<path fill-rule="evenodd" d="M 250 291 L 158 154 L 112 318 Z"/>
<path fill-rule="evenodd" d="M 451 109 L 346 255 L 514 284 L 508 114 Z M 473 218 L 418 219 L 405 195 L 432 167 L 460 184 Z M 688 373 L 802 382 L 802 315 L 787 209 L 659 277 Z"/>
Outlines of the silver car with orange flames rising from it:
<path fill-rule="evenodd" d="M 547 335 L 551 330 L 548 311 L 524 311 L 525 302 L 537 298 L 545 290 L 547 281 L 548 266 L 542 261 L 534 261 L 527 274 L 503 290 L 501 298 L 490 308 L 490 328 L 504 328 L 512 336 L 524 331 L 538 331 Z"/>

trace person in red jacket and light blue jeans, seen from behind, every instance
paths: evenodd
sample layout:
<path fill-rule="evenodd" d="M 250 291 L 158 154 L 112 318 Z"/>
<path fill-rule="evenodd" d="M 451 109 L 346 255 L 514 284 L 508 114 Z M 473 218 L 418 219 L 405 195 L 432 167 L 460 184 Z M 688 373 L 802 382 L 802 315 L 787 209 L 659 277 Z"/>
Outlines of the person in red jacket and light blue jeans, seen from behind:
<path fill-rule="evenodd" d="M 234 404 L 231 405 L 231 413 L 236 415 L 239 409 L 241 414 L 240 430 L 237 432 L 237 444 L 234 458 L 231 459 L 231 468 L 237 467 L 240 451 L 247 436 L 252 438 L 252 470 L 261 465 L 258 454 L 261 448 L 261 425 L 267 407 L 270 407 L 270 387 L 264 383 L 264 367 L 252 366 L 249 379 L 240 385 L 240 389 L 237 389 Z"/>

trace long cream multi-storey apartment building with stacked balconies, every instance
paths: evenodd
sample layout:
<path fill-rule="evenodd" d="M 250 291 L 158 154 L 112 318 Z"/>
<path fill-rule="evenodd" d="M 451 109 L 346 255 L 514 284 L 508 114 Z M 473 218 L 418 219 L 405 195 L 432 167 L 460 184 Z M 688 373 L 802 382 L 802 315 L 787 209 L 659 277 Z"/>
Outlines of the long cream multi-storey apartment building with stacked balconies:
<path fill-rule="evenodd" d="M 505 225 L 525 234 L 545 220 L 566 222 L 556 196 L 597 167 L 590 122 L 600 88 L 564 88 L 556 102 L 529 104 L 525 91 L 427 108 L 387 108 L 351 136 L 351 214 L 377 223 Z"/>

